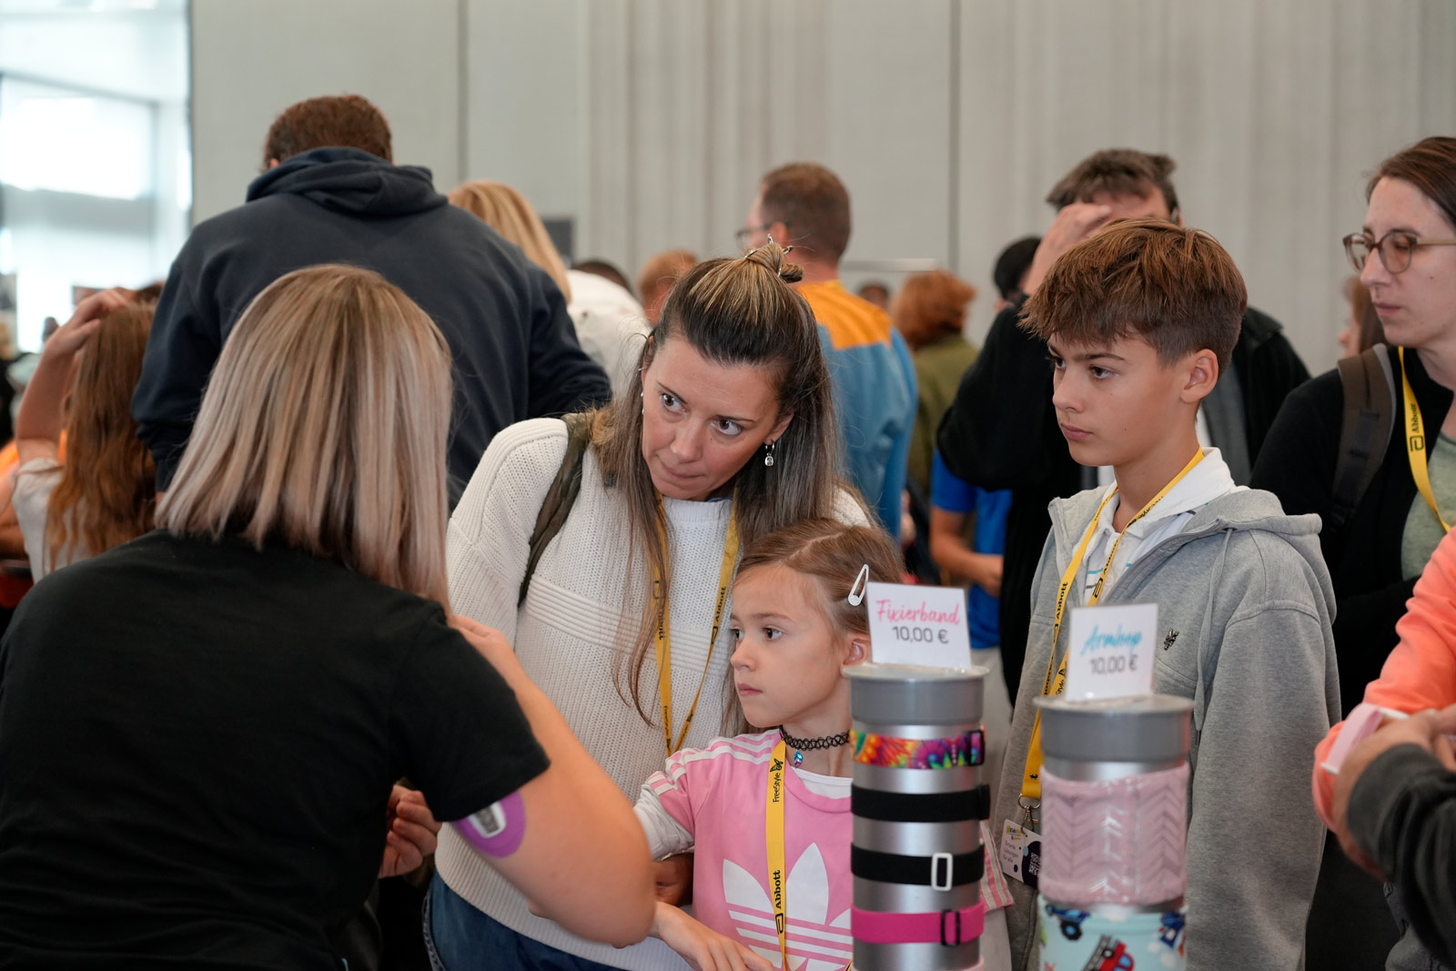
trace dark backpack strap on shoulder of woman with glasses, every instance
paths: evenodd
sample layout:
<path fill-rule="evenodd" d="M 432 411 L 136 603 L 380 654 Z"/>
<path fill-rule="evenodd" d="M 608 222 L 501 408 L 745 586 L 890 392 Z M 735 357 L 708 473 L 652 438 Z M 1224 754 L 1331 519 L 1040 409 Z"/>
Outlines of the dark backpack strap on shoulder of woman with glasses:
<path fill-rule="evenodd" d="M 1326 527 L 1340 528 L 1354 514 L 1374 482 L 1395 429 L 1395 374 L 1383 344 L 1340 361 L 1345 406 L 1340 419 L 1340 451 L 1331 483 Z"/>

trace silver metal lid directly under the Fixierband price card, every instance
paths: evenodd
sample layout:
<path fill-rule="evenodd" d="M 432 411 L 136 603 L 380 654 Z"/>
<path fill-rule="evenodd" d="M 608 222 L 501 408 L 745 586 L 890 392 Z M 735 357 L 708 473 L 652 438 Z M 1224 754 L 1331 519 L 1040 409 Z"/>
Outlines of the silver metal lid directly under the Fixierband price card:
<path fill-rule="evenodd" d="M 987 668 L 927 668 L 914 664 L 856 664 L 849 674 L 849 710 L 871 725 L 960 725 L 981 719 Z"/>

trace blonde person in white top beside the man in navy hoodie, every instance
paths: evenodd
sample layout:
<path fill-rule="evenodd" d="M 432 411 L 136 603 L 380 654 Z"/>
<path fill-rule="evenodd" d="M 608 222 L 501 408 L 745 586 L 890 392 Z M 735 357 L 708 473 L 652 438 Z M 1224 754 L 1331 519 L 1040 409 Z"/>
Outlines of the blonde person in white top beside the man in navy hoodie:
<path fill-rule="evenodd" d="M 450 204 L 485 220 L 550 274 L 566 297 L 566 313 L 581 349 L 607 373 L 613 392 L 625 387 L 648 330 L 632 294 L 604 277 L 566 269 L 536 210 L 504 182 L 463 182 L 450 192 Z"/>

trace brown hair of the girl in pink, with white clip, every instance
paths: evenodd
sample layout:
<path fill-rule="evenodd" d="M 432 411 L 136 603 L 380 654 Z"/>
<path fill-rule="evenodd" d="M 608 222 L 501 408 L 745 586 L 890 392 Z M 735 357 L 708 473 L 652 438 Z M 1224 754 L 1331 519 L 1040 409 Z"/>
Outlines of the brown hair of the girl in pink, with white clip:
<path fill-rule="evenodd" d="M 868 600 L 858 607 L 849 603 L 860 569 L 869 566 L 869 579 L 881 584 L 898 582 L 901 575 L 900 555 L 884 530 L 834 520 L 799 520 L 759 539 L 744 550 L 738 579 L 775 563 L 818 584 L 824 598 L 817 606 L 840 636 L 869 633 Z"/>

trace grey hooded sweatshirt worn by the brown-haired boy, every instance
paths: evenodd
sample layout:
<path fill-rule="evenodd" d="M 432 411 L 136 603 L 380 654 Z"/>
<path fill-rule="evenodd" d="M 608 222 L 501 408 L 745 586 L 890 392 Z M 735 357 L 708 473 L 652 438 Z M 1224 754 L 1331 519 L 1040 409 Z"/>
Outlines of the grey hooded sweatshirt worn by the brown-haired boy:
<path fill-rule="evenodd" d="M 992 828 L 1021 823 L 1035 706 L 1051 651 L 1057 584 L 1102 491 L 1051 502 L 1032 585 L 1026 662 Z M 1086 571 L 1086 566 L 1082 566 Z M 1082 574 L 1073 590 L 1083 590 Z M 1194 700 L 1188 786 L 1188 971 L 1303 967 L 1305 920 L 1325 827 L 1309 789 L 1315 745 L 1340 719 L 1329 625 L 1335 594 L 1319 517 L 1284 515 L 1270 492 L 1238 491 L 1143 550 L 1102 595 L 1158 604 L 1165 641 L 1153 686 Z M 1057 657 L 1066 651 L 1063 623 Z M 1035 895 L 1008 881 L 1012 967 L 1035 970 Z"/>

